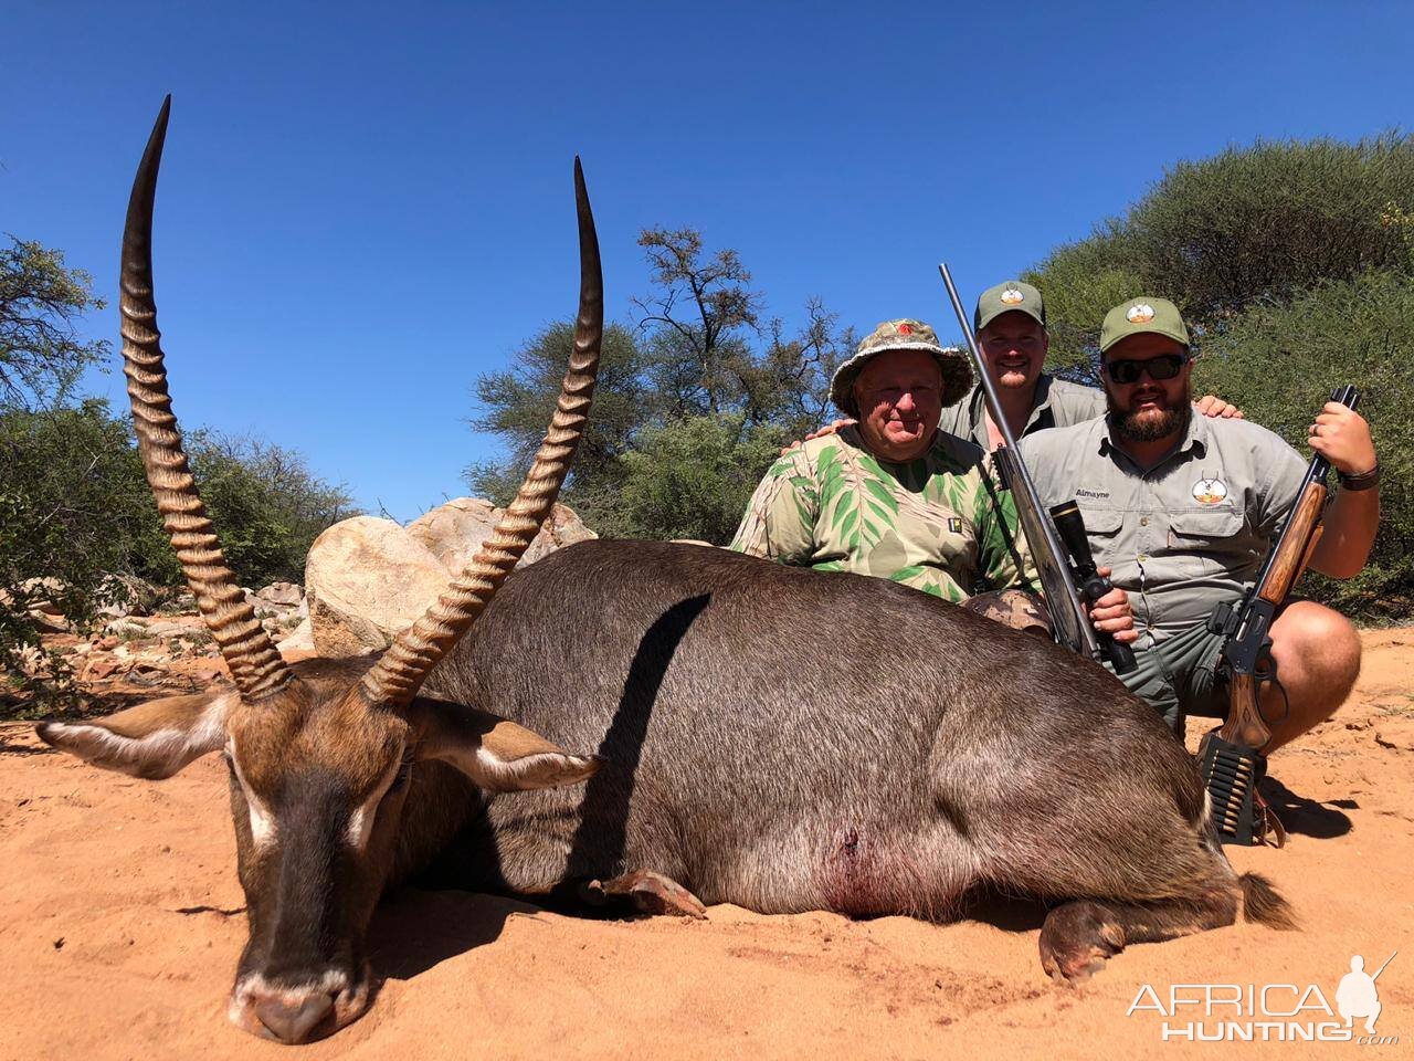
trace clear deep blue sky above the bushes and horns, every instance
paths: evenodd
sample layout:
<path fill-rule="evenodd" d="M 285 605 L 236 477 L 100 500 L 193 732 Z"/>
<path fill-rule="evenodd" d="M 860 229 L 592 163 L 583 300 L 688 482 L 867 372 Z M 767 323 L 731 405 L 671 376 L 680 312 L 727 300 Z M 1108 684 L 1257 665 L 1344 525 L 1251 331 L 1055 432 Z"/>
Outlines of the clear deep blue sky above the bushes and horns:
<path fill-rule="evenodd" d="M 1179 158 L 1414 115 L 1404 4 L 0 6 L 0 231 L 112 296 L 171 92 L 154 235 L 178 416 L 400 519 L 495 451 L 478 373 L 574 311 L 584 158 L 611 317 L 645 226 L 732 246 L 768 308 L 949 328 Z M 89 321 L 116 337 L 116 311 Z M 92 389 L 120 396 L 116 371 Z"/>

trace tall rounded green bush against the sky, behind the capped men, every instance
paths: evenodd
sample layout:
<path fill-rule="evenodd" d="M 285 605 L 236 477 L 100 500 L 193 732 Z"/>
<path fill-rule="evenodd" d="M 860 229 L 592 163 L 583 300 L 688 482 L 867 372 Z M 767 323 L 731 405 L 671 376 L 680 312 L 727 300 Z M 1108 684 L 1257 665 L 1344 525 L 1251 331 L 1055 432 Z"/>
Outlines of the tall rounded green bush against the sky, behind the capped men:
<path fill-rule="evenodd" d="M 1168 170 L 1121 218 L 1024 279 L 1046 297 L 1051 364 L 1094 375 L 1106 310 L 1171 298 L 1220 332 L 1250 306 L 1369 270 L 1411 272 L 1414 137 L 1257 143 Z"/>

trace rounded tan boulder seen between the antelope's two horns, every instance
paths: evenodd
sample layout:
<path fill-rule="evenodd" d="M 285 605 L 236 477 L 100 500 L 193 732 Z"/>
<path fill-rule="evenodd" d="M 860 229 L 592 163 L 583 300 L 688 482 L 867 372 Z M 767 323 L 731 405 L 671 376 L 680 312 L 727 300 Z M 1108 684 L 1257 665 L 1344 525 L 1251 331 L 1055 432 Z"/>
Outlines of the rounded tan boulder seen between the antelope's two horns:
<path fill-rule="evenodd" d="M 314 540 L 304 567 L 315 649 L 355 656 L 386 648 L 447 581 L 437 556 L 392 519 L 335 523 Z"/>

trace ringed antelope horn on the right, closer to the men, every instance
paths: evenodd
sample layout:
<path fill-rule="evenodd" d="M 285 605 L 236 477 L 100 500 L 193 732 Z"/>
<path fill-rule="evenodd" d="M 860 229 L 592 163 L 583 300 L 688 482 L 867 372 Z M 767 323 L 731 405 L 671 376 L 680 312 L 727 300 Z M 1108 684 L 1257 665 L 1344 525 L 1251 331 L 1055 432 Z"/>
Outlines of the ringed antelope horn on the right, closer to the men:
<path fill-rule="evenodd" d="M 363 692 L 373 703 L 406 707 L 427 673 L 471 630 L 550 515 L 584 434 L 600 368 L 600 341 L 604 338 L 604 277 L 600 272 L 600 240 L 594 235 L 594 215 L 578 158 L 574 160 L 574 198 L 580 215 L 580 315 L 574 323 L 574 352 L 550 427 L 526 481 L 491 538 L 437 603 L 399 634 L 363 675 Z"/>

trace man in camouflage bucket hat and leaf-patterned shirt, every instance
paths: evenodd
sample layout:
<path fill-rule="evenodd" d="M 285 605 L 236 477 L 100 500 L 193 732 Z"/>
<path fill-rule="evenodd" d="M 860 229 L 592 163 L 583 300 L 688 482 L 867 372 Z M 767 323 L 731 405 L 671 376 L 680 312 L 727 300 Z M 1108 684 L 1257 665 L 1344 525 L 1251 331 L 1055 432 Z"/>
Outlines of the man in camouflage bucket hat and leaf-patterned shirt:
<path fill-rule="evenodd" d="M 983 450 L 939 430 L 971 386 L 967 356 L 916 320 L 878 325 L 836 371 L 830 396 L 855 423 L 792 447 L 756 488 L 731 542 L 738 552 L 901 581 L 954 603 L 1029 589 L 1035 570 L 1010 492 Z M 1034 597 L 983 598 L 1010 625 L 1045 625 Z M 1097 601 L 1103 630 L 1130 624 L 1123 594 Z"/>

